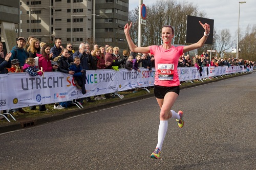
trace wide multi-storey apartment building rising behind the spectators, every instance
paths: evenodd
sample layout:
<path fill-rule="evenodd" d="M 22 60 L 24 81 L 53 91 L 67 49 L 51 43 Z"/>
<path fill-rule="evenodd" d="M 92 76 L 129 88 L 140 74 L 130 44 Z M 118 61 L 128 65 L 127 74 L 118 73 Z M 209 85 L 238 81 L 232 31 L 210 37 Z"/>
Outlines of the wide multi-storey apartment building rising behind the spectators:
<path fill-rule="evenodd" d="M 126 48 L 129 0 L 20 0 L 21 35 L 43 42 L 80 42 Z"/>

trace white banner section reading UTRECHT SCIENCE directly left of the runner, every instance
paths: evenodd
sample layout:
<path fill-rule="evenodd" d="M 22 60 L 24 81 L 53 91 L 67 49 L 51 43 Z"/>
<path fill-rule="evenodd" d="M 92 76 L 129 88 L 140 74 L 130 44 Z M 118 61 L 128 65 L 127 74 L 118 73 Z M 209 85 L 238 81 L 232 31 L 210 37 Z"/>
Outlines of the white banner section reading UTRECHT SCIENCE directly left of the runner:
<path fill-rule="evenodd" d="M 152 72 L 146 68 L 136 70 L 119 69 L 118 71 L 118 91 L 133 89 L 136 87 L 154 86 L 155 69 Z"/>

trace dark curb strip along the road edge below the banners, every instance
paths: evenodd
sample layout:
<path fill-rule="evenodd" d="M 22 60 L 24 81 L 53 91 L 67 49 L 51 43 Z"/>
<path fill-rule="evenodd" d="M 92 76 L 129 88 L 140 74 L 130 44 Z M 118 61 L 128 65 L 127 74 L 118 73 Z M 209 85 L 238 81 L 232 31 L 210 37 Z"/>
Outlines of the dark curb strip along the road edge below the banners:
<path fill-rule="evenodd" d="M 236 75 L 236 77 L 247 75 L 247 74 L 250 74 L 250 72 L 246 73 L 246 74 Z M 208 82 L 202 82 L 200 84 L 191 84 L 191 85 L 188 85 L 188 86 L 185 86 L 185 87 L 180 86 L 180 89 L 196 87 L 196 86 L 200 86 L 200 85 L 204 85 L 204 84 L 208 84 L 208 83 L 213 83 L 213 82 L 217 82 L 217 81 L 221 81 L 221 80 L 226 80 L 226 79 L 230 79 L 230 78 L 233 78 L 233 77 L 211 80 L 211 81 L 208 81 Z M 111 103 L 101 104 L 101 105 L 92 106 L 92 107 L 89 107 L 89 108 L 68 110 L 68 111 L 64 111 L 62 113 L 56 113 L 56 114 L 53 114 L 53 115 L 45 115 L 45 116 L 41 116 L 41 117 L 37 117 L 37 118 L 25 118 L 25 119 L 20 120 L 20 122 L 0 125 L 0 133 L 15 131 L 15 130 L 18 130 L 18 129 L 23 129 L 23 128 L 29 128 L 29 127 L 33 127 L 33 126 L 41 125 L 41 124 L 46 124 L 46 123 L 49 123 L 49 122 L 53 122 L 55 120 L 59 120 L 59 119 L 63 119 L 63 118 L 67 118 L 67 117 L 71 117 L 71 116 L 75 116 L 75 115 L 80 115 L 80 114 L 83 114 L 85 112 L 92 112 L 92 111 L 96 111 L 96 110 L 100 110 L 100 109 L 104 109 L 104 108 L 117 106 L 117 105 L 120 105 L 120 104 L 125 104 L 125 103 L 129 103 L 129 102 L 139 101 L 139 100 L 142 100 L 142 99 L 152 98 L 154 96 L 155 96 L 154 93 L 148 93 L 148 94 L 144 94 L 144 95 L 141 95 L 141 96 L 136 96 L 135 98 L 123 99 L 123 100 L 118 101 L 118 102 L 111 102 Z"/>

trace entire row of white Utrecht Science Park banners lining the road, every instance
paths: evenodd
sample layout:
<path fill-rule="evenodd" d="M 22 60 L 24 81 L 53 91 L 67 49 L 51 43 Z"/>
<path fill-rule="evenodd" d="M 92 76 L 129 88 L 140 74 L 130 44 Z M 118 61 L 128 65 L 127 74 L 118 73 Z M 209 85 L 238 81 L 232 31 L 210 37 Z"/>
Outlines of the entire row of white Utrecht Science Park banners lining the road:
<path fill-rule="evenodd" d="M 145 68 L 140 69 L 141 72 L 127 69 L 87 70 L 85 95 L 74 84 L 73 76 L 62 72 L 45 72 L 44 77 L 32 77 L 25 72 L 0 74 L 0 110 L 71 101 L 86 96 L 154 86 L 155 68 L 152 68 L 152 72 Z M 200 76 L 196 67 L 178 67 L 178 75 L 180 81 L 187 81 L 249 70 L 253 68 L 211 66 L 208 67 L 208 75 L 206 67 L 203 67 Z"/>

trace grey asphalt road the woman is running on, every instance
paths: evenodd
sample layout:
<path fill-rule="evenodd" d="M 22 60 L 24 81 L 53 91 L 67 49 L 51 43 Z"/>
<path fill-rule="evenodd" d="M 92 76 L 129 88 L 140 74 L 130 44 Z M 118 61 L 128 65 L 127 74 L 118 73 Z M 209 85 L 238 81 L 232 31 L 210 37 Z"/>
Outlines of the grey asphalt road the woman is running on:
<path fill-rule="evenodd" d="M 256 169 L 256 74 L 182 89 L 161 159 L 155 98 L 0 134 L 0 169 Z"/>

